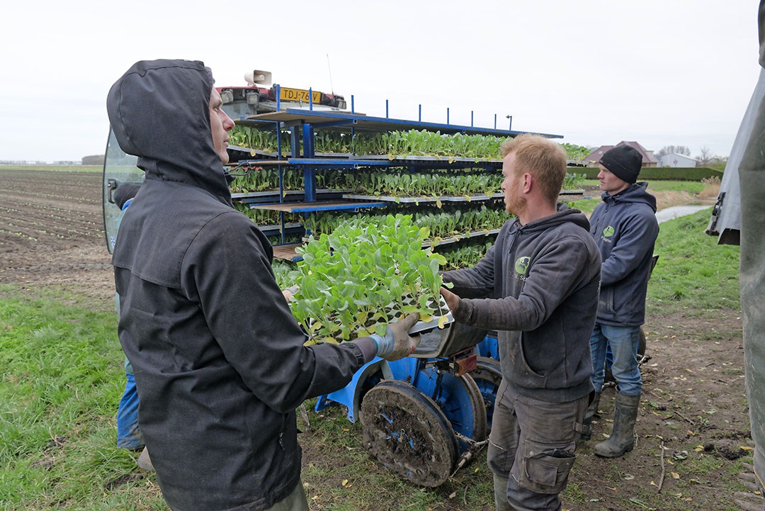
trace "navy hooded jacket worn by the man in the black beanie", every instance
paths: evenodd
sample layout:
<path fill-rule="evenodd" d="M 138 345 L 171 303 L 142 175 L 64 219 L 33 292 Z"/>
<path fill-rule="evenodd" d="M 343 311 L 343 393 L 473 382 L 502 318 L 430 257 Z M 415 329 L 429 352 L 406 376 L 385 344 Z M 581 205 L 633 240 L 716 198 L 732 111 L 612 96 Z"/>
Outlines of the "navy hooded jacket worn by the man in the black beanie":
<path fill-rule="evenodd" d="M 590 216 L 590 233 L 601 251 L 601 299 L 597 322 L 640 326 L 646 318 L 646 288 L 659 234 L 656 197 L 648 183 L 630 184 L 620 193 L 603 194 Z"/>

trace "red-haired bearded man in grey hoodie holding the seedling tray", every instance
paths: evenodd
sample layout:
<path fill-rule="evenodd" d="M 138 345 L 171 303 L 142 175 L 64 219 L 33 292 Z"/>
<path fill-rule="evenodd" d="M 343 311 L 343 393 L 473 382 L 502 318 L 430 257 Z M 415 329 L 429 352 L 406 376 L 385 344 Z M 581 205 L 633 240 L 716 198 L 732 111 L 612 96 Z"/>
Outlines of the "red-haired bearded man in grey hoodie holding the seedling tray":
<path fill-rule="evenodd" d="M 503 379 L 487 452 L 496 509 L 558 511 L 592 391 L 601 258 L 587 217 L 558 203 L 560 145 L 520 135 L 502 155 L 516 218 L 474 268 L 444 273 L 454 287 L 441 295 L 455 321 L 499 333 Z"/>

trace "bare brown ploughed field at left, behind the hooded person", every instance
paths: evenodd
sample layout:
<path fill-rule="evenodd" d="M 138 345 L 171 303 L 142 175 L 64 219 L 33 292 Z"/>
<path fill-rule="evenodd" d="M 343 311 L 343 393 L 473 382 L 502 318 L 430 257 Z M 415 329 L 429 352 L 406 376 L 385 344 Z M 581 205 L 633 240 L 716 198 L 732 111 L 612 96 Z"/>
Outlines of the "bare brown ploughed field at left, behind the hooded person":
<path fill-rule="evenodd" d="M 67 285 L 106 304 L 114 282 L 102 174 L 0 168 L 0 284 Z"/>

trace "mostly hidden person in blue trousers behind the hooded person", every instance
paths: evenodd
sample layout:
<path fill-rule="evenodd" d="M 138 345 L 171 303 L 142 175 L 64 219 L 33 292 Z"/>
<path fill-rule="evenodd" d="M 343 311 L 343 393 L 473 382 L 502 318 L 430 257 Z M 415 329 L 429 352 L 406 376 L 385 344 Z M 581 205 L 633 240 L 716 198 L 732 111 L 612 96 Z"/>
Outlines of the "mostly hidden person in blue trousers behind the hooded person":
<path fill-rule="evenodd" d="M 114 203 L 121 210 L 117 218 L 118 232 L 119 224 L 122 223 L 122 216 L 125 216 L 125 211 L 132 203 L 135 194 L 138 193 L 139 187 L 139 184 L 122 183 L 114 192 Z M 114 302 L 117 317 L 119 317 L 119 295 L 116 293 Z M 122 399 L 119 400 L 119 408 L 117 408 L 117 447 L 130 451 L 142 449 L 143 451 L 138 457 L 138 466 L 151 470 L 153 468 L 151 458 L 149 458 L 145 448 L 141 428 L 138 427 L 138 390 L 135 389 L 133 366 L 127 356 L 125 356 L 125 377 L 125 392 L 122 393 Z"/>

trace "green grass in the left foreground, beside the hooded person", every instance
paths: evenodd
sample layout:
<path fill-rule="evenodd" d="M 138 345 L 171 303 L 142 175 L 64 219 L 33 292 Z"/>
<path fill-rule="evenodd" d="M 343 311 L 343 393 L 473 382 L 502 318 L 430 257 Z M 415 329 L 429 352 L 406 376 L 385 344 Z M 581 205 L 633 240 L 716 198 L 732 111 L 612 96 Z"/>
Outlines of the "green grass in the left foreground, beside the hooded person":
<path fill-rule="evenodd" d="M 108 484 L 135 472 L 115 447 L 125 385 L 116 315 L 13 294 L 0 288 L 0 509 L 161 505 L 156 490 Z"/>

